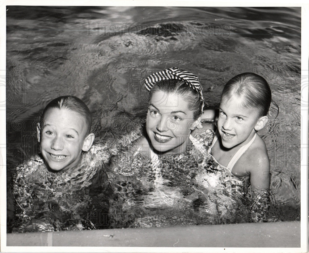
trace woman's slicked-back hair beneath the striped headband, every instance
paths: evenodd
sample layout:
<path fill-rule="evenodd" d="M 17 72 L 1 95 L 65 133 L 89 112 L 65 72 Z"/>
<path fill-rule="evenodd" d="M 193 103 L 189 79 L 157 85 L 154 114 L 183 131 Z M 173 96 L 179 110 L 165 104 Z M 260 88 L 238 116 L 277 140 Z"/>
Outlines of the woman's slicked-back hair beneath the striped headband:
<path fill-rule="evenodd" d="M 190 88 L 190 86 L 184 81 L 177 79 L 158 81 L 149 92 L 149 101 L 155 91 L 163 91 L 181 95 L 184 101 L 188 102 L 188 109 L 193 110 L 193 119 L 196 120 L 201 116 L 203 100 L 201 99 L 199 93 Z"/>

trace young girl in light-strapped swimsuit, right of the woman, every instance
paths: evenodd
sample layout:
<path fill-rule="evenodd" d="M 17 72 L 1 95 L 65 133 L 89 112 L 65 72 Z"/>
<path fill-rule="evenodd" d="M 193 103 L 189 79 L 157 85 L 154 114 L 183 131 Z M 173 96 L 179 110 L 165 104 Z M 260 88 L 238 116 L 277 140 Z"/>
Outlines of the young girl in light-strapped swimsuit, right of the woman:
<path fill-rule="evenodd" d="M 218 131 L 209 149 L 218 164 L 250 183 L 253 221 L 265 221 L 269 208 L 269 158 L 257 131 L 268 121 L 270 103 L 269 85 L 260 75 L 243 73 L 229 80 L 221 96 Z"/>

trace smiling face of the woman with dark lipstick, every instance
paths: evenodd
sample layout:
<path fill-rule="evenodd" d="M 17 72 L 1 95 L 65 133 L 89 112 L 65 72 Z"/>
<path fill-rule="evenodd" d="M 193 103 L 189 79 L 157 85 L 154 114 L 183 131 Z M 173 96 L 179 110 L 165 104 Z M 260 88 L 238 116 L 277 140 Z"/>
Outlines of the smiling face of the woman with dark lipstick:
<path fill-rule="evenodd" d="M 179 154 L 187 148 L 188 138 L 198 120 L 181 95 L 155 91 L 149 101 L 146 131 L 159 152 Z"/>

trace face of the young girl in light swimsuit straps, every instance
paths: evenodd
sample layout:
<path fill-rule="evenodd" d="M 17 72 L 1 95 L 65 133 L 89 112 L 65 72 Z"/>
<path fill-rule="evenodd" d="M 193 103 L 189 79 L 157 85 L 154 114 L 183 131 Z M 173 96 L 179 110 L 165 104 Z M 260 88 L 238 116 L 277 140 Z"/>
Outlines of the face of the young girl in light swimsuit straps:
<path fill-rule="evenodd" d="M 219 109 L 218 131 L 225 148 L 247 144 L 255 134 L 259 115 L 254 108 L 244 108 L 243 98 L 222 97 Z M 259 129 L 257 129 L 259 130 Z"/>

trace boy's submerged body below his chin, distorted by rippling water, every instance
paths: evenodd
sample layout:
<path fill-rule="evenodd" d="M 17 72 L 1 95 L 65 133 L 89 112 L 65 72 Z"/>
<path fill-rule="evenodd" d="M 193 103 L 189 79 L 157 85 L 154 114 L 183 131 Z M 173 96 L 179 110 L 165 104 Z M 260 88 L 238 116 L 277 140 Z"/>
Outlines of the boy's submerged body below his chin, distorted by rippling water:
<path fill-rule="evenodd" d="M 19 165 L 13 232 L 106 228 L 109 203 L 102 164 L 109 157 L 105 148 L 93 145 L 73 169 L 50 171 L 40 156 Z"/>

